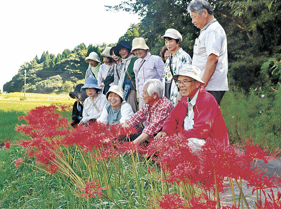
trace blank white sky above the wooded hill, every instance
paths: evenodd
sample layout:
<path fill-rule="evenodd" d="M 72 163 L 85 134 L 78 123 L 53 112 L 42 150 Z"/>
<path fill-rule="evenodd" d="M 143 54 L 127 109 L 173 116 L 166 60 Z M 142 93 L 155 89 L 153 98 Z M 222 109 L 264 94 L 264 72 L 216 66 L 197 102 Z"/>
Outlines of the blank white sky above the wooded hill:
<path fill-rule="evenodd" d="M 84 43 L 116 43 L 130 24 L 140 22 L 136 14 L 106 11 L 104 5 L 121 0 L 73 1 L 26 0 L 0 3 L 0 89 L 17 74 L 24 62 L 36 55 L 62 53 Z"/>

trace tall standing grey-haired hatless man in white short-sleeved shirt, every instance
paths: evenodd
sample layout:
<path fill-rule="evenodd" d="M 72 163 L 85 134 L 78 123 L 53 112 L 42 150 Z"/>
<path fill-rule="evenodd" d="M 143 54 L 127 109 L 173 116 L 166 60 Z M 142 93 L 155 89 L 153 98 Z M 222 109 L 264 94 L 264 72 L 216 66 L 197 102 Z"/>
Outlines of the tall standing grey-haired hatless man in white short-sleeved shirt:
<path fill-rule="evenodd" d="M 205 0 L 193 0 L 187 8 L 192 23 L 201 29 L 193 48 L 192 65 L 199 67 L 202 86 L 211 93 L 220 104 L 227 82 L 227 38 L 224 29 L 214 17 L 212 7 Z"/>

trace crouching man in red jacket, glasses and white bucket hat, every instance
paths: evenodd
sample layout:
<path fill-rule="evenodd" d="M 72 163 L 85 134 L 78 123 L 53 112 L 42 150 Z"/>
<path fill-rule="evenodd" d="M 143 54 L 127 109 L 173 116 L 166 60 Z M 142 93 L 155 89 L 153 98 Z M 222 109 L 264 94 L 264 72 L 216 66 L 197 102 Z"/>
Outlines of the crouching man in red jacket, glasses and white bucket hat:
<path fill-rule="evenodd" d="M 188 144 L 193 149 L 199 149 L 208 139 L 218 139 L 225 147 L 229 145 L 218 102 L 200 87 L 205 84 L 201 80 L 201 70 L 195 65 L 185 64 L 173 79 L 181 90 L 183 99 L 171 111 L 156 138 L 182 134 L 188 138 Z"/>

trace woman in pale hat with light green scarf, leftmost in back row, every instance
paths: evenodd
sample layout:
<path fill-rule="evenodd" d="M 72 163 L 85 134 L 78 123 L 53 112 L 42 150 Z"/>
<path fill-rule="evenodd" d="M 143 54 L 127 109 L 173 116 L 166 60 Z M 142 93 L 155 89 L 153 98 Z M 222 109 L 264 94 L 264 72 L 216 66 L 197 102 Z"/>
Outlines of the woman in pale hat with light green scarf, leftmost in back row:
<path fill-rule="evenodd" d="M 97 78 L 98 71 L 100 69 L 100 58 L 95 52 L 91 52 L 89 56 L 85 58 L 85 61 L 90 64 L 89 68 L 86 71 L 85 79 L 88 77 Z"/>

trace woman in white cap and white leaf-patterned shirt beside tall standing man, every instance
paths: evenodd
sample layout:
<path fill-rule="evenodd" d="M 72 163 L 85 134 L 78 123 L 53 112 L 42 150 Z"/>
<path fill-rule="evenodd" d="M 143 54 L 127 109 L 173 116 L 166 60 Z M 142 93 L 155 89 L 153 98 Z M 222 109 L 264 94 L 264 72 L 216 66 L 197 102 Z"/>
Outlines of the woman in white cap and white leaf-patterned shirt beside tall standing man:
<path fill-rule="evenodd" d="M 191 64 L 191 57 L 181 47 L 182 36 L 176 29 L 169 28 L 161 37 L 165 45 L 171 51 L 170 57 L 166 60 L 162 83 L 164 85 L 164 96 L 167 97 L 174 106 L 181 100 L 178 86 L 174 82 L 173 75 L 178 74 L 184 64 Z"/>

